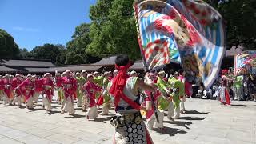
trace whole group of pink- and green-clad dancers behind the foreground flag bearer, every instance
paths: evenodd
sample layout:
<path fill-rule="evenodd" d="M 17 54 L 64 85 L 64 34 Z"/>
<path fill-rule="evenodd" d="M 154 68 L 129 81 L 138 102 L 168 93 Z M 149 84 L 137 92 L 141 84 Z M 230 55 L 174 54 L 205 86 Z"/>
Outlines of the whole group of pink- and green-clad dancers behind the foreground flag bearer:
<path fill-rule="evenodd" d="M 50 73 L 42 77 L 38 75 L 6 74 L 0 76 L 0 98 L 6 106 L 19 106 L 25 104 L 27 109 L 34 109 L 38 103 L 38 97 L 42 95 L 42 107 L 46 108 L 46 113 L 51 113 L 51 103 L 54 90 L 57 90 L 57 102 L 61 105 L 61 113 L 74 114 L 74 103 L 86 112 L 86 118 L 97 118 L 98 108 L 102 107 L 102 115 L 109 114 L 114 105 L 114 95 L 109 93 L 112 79 L 118 74 L 118 70 L 87 73 L 71 72 L 66 70 L 62 74 L 56 71 L 55 76 Z M 135 71 L 129 73 L 130 78 L 138 78 Z M 146 116 L 147 128 L 153 130 L 158 127 L 164 131 L 163 118 L 164 111 L 168 111 L 167 118 L 174 121 L 180 114 L 185 112 L 184 102 L 186 100 L 185 78 L 182 70 L 170 74 L 166 77 L 165 71 L 158 73 L 146 73 L 143 79 L 146 83 L 154 86 L 154 105 L 157 109 L 158 119 L 156 121 L 153 105 L 151 104 L 150 92 L 140 90 L 138 103 L 145 107 L 141 114 Z"/>

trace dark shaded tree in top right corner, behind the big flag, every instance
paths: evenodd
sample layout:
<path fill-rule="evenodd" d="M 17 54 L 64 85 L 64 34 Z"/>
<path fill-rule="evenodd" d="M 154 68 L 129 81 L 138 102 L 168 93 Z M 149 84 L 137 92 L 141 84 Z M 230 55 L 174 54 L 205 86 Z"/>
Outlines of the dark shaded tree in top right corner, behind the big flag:
<path fill-rule="evenodd" d="M 226 22 L 226 42 L 232 46 L 243 44 L 246 50 L 256 50 L 256 1 L 255 0 L 207 0 L 222 14 Z"/>

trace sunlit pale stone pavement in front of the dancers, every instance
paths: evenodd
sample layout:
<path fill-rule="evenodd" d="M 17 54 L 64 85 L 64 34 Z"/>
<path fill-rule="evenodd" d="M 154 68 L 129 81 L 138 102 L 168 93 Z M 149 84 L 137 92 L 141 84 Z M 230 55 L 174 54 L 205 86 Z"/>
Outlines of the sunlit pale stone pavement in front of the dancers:
<path fill-rule="evenodd" d="M 40 99 L 41 100 L 41 99 Z M 102 116 L 88 121 L 77 108 L 74 116 L 60 113 L 54 101 L 52 114 L 40 106 L 26 110 L 3 106 L 0 102 L 0 143 L 113 143 L 114 127 Z M 256 144 L 256 102 L 232 102 L 186 99 L 186 114 L 175 122 L 165 118 L 166 134 L 150 131 L 154 143 L 177 144 Z"/>

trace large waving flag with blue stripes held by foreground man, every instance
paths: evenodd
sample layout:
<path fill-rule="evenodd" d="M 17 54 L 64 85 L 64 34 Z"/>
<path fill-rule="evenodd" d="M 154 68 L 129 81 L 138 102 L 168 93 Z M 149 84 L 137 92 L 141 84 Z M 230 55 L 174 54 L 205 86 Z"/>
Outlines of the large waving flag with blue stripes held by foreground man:
<path fill-rule="evenodd" d="M 181 62 L 210 86 L 225 54 L 222 17 L 197 0 L 135 0 L 138 42 L 147 70 Z"/>

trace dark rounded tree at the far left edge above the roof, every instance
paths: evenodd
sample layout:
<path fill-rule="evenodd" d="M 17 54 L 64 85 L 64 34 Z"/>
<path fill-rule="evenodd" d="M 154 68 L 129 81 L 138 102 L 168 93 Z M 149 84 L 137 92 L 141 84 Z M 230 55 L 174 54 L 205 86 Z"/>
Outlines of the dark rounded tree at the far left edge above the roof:
<path fill-rule="evenodd" d="M 19 54 L 18 45 L 14 42 L 14 38 L 5 30 L 0 29 L 0 57 L 14 58 Z"/>

